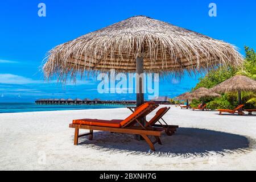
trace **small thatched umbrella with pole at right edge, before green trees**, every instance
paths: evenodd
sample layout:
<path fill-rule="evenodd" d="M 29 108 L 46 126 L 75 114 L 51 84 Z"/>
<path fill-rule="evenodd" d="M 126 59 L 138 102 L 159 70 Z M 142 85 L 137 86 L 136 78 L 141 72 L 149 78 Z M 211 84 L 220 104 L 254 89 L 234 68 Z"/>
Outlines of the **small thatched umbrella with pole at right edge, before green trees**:
<path fill-rule="evenodd" d="M 241 92 L 255 92 L 256 81 L 246 76 L 236 75 L 214 86 L 210 90 L 217 93 L 238 92 L 238 103 L 241 104 Z"/>

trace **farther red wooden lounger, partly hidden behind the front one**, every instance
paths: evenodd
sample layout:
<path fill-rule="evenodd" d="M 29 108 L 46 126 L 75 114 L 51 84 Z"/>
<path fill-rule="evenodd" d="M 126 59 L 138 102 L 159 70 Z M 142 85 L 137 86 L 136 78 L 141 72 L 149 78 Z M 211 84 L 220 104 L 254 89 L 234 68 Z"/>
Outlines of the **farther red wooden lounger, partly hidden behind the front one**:
<path fill-rule="evenodd" d="M 163 119 L 163 115 L 166 114 L 170 109 L 171 109 L 170 107 L 163 107 L 159 109 L 156 112 L 155 116 L 152 119 L 150 119 L 150 121 L 146 122 L 146 127 L 147 126 L 160 127 L 160 128 L 162 127 L 166 131 L 167 135 L 171 136 L 172 134 L 174 134 L 177 128 L 179 128 L 179 126 L 168 125 L 166 121 L 164 121 Z M 160 122 L 160 119 L 162 119 L 162 122 L 164 122 L 164 124 Z M 159 122 L 160 125 L 156 125 L 157 122 Z"/>

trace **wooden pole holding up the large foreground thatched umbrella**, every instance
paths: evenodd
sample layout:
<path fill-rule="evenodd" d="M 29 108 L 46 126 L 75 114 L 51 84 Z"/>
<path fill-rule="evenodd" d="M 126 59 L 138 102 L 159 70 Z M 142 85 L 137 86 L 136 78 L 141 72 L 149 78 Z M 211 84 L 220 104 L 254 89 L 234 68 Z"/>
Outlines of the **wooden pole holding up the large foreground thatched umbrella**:
<path fill-rule="evenodd" d="M 143 81 L 144 81 L 144 69 L 143 69 L 143 53 L 140 53 L 136 59 L 136 89 L 137 89 L 137 107 L 144 103 L 144 93 L 143 93 Z M 146 119 L 146 118 L 145 118 Z M 144 126 L 144 119 L 141 119 L 141 123 Z M 135 139 L 141 140 L 140 135 L 135 135 Z"/>

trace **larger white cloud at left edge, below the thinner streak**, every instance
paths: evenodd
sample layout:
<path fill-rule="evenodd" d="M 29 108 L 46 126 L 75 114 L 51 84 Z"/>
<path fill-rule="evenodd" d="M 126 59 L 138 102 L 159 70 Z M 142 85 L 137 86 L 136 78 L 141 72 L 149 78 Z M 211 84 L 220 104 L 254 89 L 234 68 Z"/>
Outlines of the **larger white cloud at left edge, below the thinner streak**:
<path fill-rule="evenodd" d="M 0 83 L 1 84 L 39 84 L 42 81 L 33 80 L 31 78 L 13 75 L 13 74 L 0 74 Z"/>

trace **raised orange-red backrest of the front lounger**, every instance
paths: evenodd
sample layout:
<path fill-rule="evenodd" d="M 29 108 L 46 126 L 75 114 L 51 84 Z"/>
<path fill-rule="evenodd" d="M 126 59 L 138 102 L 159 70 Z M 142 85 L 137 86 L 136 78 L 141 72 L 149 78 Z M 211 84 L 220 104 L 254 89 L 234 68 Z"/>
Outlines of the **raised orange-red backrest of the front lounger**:
<path fill-rule="evenodd" d="M 155 105 L 155 102 L 146 102 L 144 104 L 142 104 L 141 106 L 139 106 L 133 114 L 129 115 L 129 117 L 127 117 L 126 119 L 124 119 L 120 124 L 121 126 L 126 126 L 128 123 L 135 121 L 135 119 L 138 119 L 139 117 L 143 117 L 145 116 L 144 113 L 151 110 L 151 107 Z"/>

